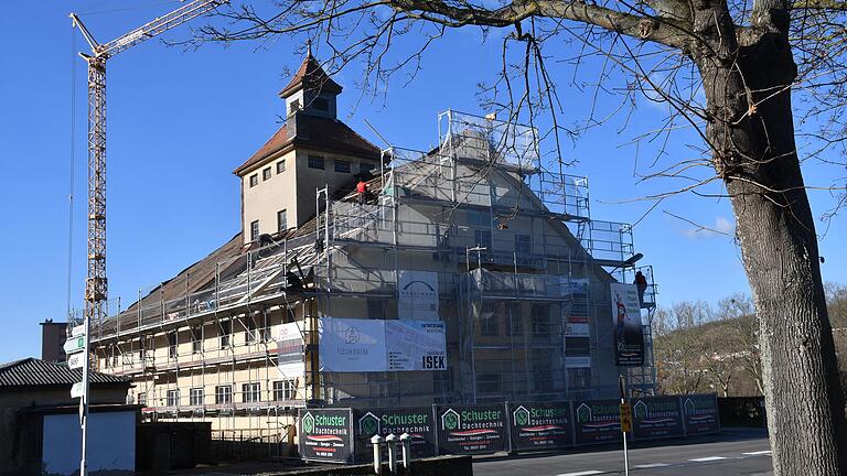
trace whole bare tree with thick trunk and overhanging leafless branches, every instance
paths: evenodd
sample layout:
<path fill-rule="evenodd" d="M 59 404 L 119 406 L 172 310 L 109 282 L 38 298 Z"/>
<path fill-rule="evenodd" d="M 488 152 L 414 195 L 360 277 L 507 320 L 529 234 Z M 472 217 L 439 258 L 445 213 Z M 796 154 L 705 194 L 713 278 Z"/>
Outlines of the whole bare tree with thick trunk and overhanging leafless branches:
<path fill-rule="evenodd" d="M 823 152 L 845 147 L 845 12 L 829 0 L 279 0 L 264 11 L 223 10 L 233 23 L 204 29 L 199 41 L 305 35 L 332 52 L 331 71 L 357 62 L 363 88 L 377 91 L 397 73 L 414 77 L 449 29 L 507 29 L 487 100 L 508 120 L 549 118 L 544 136 L 557 145 L 560 134 L 600 125 L 603 115 L 594 108 L 585 127 L 561 126 L 544 53 L 550 42 L 578 52 L 564 58 L 576 78 L 589 57 L 600 58 L 599 76 L 577 87 L 665 101 L 665 127 L 641 138 L 685 126 L 699 136 L 691 145 L 700 153 L 660 151 L 646 177 L 677 181 L 671 193 L 720 184 L 732 204 L 759 316 L 774 473 L 829 476 L 847 474 L 847 429 L 797 144 L 804 160 L 840 163 Z M 793 105 L 792 96 L 801 100 Z M 843 181 L 822 185 L 834 210 L 847 199 Z"/>

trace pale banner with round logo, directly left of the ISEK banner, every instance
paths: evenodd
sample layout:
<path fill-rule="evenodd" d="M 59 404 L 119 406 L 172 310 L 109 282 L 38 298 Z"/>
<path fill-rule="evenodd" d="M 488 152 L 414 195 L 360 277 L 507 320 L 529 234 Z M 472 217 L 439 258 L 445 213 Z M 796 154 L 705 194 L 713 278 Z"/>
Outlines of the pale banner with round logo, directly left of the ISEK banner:
<path fill-rule="evenodd" d="M 322 371 L 385 371 L 385 321 L 321 317 L 318 320 Z"/>

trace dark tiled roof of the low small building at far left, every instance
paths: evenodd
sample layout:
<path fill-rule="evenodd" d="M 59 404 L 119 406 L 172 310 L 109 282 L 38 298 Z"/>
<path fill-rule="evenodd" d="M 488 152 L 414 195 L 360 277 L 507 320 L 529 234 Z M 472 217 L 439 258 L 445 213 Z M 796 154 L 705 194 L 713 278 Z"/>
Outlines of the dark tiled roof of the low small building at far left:
<path fill-rule="evenodd" d="M 93 371 L 89 382 L 95 385 L 130 386 L 126 377 Z M 83 380 L 82 369 L 72 369 L 67 364 L 49 363 L 28 357 L 7 364 L 0 364 L 0 390 L 15 387 L 56 387 L 73 386 Z"/>

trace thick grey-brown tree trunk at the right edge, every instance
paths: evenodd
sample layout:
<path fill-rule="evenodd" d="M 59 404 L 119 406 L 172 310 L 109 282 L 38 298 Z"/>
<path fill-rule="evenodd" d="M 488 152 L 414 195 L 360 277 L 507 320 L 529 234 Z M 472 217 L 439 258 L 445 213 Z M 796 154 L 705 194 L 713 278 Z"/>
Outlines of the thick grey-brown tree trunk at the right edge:
<path fill-rule="evenodd" d="M 721 42 L 695 61 L 755 300 L 774 475 L 847 475 L 844 396 L 794 143 L 796 66 L 779 34 L 748 47 Z"/>

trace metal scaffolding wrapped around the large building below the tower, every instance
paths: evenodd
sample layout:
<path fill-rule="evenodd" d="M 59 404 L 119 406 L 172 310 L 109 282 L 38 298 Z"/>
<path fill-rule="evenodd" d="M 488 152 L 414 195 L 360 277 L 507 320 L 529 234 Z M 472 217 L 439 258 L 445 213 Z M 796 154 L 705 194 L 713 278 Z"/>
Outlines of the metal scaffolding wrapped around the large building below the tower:
<path fill-rule="evenodd" d="M 99 369 L 131 377 L 149 419 L 215 418 L 268 442 L 314 404 L 604 398 L 620 374 L 652 392 L 652 345 L 644 367 L 617 368 L 605 317 L 602 284 L 636 271 L 632 227 L 592 220 L 587 178 L 545 169 L 533 128 L 447 111 L 439 133 L 429 152 L 384 150 L 371 199 L 321 188 L 300 229 L 109 306 L 92 323 Z M 646 339 L 655 283 L 639 269 Z M 448 370 L 322 371 L 318 320 L 401 317 L 404 270 L 438 275 Z M 302 371 L 281 375 L 291 323 Z"/>

